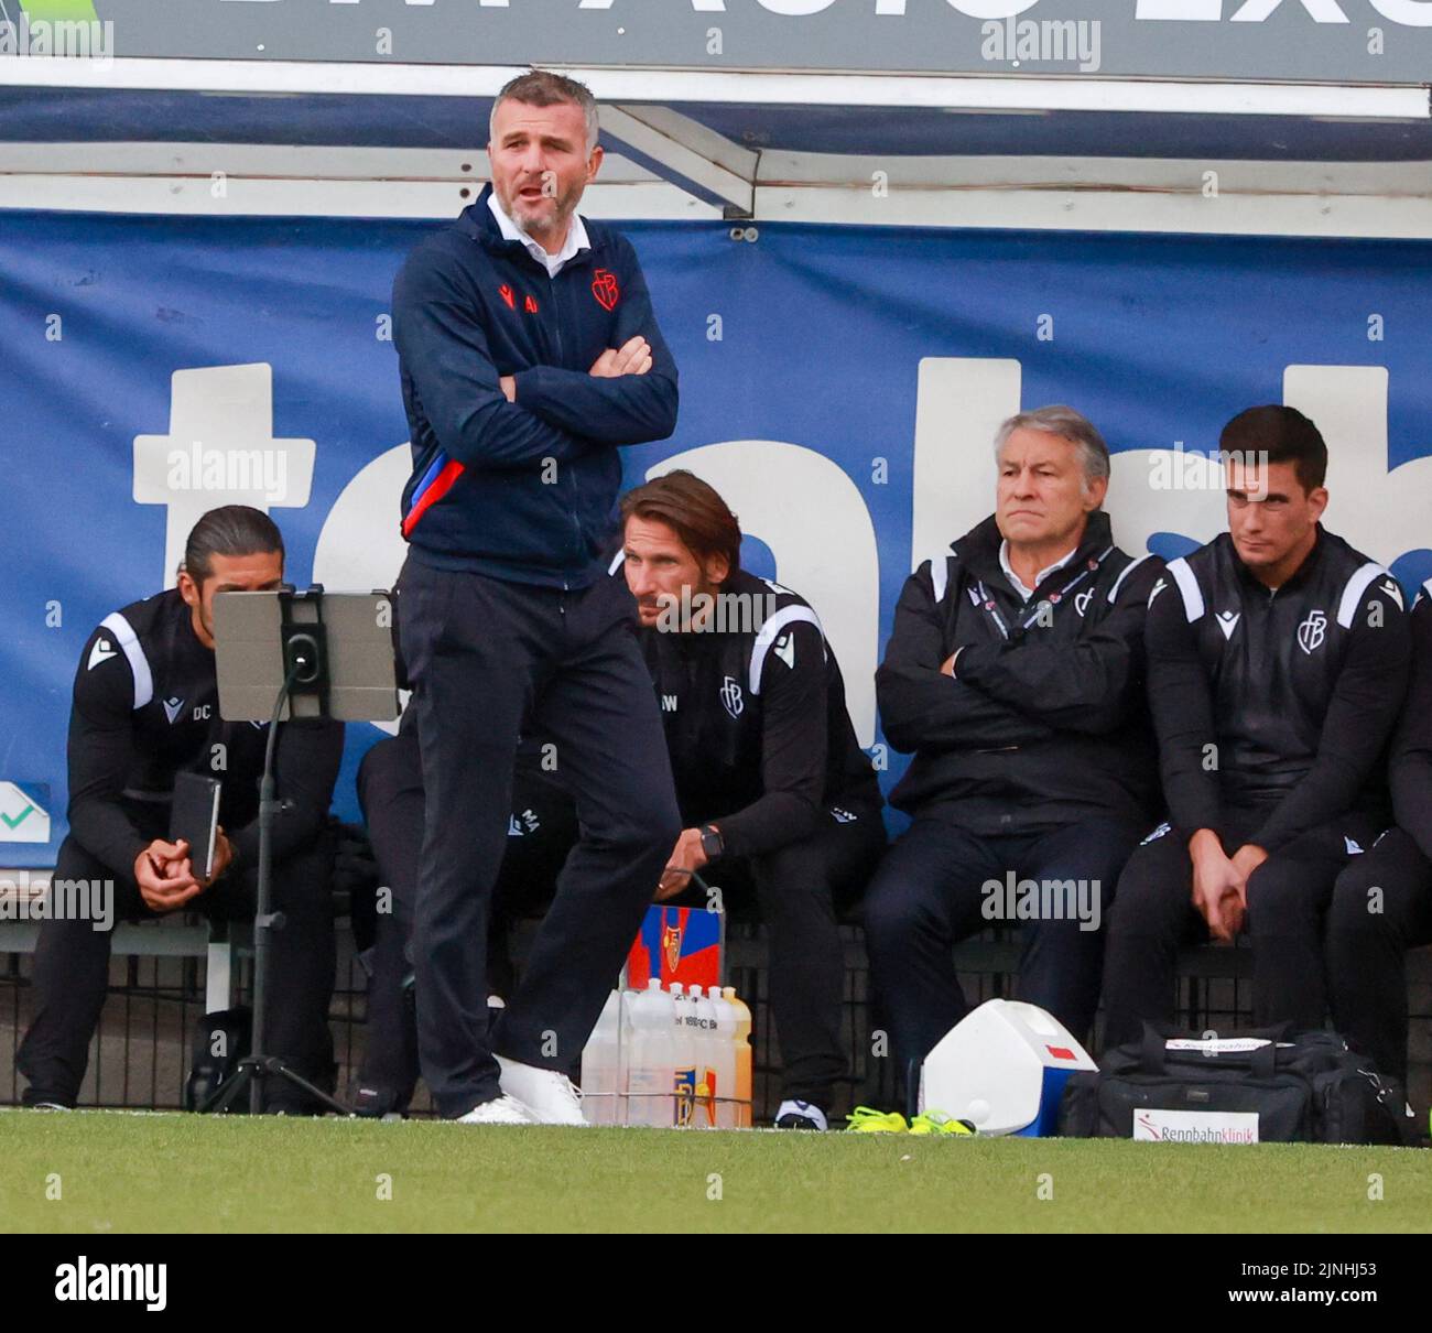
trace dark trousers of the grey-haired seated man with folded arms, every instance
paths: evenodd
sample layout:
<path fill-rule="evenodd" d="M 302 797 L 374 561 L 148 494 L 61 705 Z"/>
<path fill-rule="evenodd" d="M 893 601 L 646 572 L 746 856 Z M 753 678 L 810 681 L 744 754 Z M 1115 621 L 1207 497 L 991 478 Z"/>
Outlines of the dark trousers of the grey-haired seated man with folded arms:
<path fill-rule="evenodd" d="M 1015 916 L 1024 944 L 1018 998 L 1084 1039 L 1098 1002 L 1104 913 L 1143 832 L 1123 819 L 1091 818 L 1038 833 L 981 838 L 944 819 L 916 819 L 881 862 L 865 899 L 871 976 L 898 1068 L 922 1061 L 969 1012 L 951 951 L 1005 919 L 1011 875 L 1015 886 L 1084 885 L 1084 919 L 1067 911 L 1022 922 Z"/>

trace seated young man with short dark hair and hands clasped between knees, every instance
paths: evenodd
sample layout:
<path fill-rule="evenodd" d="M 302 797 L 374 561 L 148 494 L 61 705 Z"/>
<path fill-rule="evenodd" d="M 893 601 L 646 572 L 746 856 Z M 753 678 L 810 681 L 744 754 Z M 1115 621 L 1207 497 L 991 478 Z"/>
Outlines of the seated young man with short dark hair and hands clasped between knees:
<path fill-rule="evenodd" d="M 1249 408 L 1219 447 L 1229 531 L 1148 594 L 1170 823 L 1118 881 L 1108 1047 L 1171 1022 L 1181 944 L 1243 929 L 1253 1021 L 1322 1027 L 1333 882 L 1388 823 L 1382 756 L 1408 683 L 1402 590 L 1319 521 L 1327 445 L 1302 412 Z"/>

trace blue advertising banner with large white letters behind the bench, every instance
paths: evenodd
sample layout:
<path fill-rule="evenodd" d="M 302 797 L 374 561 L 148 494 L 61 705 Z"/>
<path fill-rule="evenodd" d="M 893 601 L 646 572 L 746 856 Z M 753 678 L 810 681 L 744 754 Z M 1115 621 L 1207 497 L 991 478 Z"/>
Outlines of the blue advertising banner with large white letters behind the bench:
<path fill-rule="evenodd" d="M 77 654 L 173 583 L 205 510 L 268 508 L 288 577 L 391 586 L 407 425 L 390 286 L 432 223 L 7 213 L 0 222 L 0 865 L 64 832 Z M 722 223 L 630 225 L 682 372 L 676 435 L 748 564 L 803 593 L 886 783 L 872 673 L 921 558 L 992 508 L 991 440 L 1070 402 L 1116 451 L 1127 550 L 1221 524 L 1207 467 L 1257 402 L 1332 450 L 1326 523 L 1411 587 L 1432 574 L 1432 248 L 1411 242 Z M 349 727 L 339 813 L 377 727 Z"/>

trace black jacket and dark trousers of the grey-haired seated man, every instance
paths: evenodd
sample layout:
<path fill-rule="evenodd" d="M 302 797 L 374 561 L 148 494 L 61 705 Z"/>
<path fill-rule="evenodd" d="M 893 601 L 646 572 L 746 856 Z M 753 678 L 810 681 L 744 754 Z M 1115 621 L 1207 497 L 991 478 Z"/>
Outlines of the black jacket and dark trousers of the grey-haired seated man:
<path fill-rule="evenodd" d="M 1101 919 L 1154 813 L 1143 620 L 1161 561 L 1121 551 L 1103 511 L 1028 600 L 1000 556 L 991 517 L 911 574 L 876 674 L 885 736 L 915 756 L 891 796 L 914 823 L 865 905 L 902 1068 L 967 1012 L 951 948 L 998 922 L 985 885 L 1010 873 L 1084 882 Z M 957 650 L 951 679 L 941 666 Z M 1093 913 L 1024 928 L 1021 998 L 1078 1035 L 1098 997 L 1103 931 L 1091 925 Z"/>

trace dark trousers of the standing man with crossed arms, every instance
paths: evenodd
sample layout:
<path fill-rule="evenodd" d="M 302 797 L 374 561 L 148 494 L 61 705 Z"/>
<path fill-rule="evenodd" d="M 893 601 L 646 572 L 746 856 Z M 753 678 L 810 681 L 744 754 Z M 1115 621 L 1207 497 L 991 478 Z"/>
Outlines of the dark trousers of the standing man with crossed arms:
<path fill-rule="evenodd" d="M 441 571 L 398 580 L 425 826 L 414 961 L 418 1055 L 438 1113 L 498 1095 L 494 1051 L 570 1067 L 680 833 L 666 737 L 619 580 L 564 591 Z M 518 732 L 551 737 L 581 838 L 488 1037 L 487 929 Z"/>

